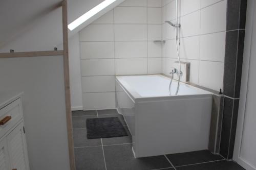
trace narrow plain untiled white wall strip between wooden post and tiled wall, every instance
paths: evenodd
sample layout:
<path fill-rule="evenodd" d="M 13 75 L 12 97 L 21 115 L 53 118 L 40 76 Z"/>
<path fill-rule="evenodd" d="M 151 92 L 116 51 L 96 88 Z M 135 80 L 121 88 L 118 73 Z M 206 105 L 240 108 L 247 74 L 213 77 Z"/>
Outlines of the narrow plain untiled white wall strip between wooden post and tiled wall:
<path fill-rule="evenodd" d="M 69 38 L 69 68 L 72 110 L 82 110 L 79 34 Z"/>

